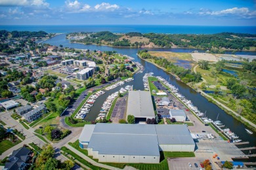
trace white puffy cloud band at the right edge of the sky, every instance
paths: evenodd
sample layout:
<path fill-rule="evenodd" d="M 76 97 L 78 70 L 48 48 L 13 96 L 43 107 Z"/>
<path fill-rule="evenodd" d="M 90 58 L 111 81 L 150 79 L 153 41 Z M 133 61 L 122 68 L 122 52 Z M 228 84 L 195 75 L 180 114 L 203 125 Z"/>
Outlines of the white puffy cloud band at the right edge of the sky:
<path fill-rule="evenodd" d="M 224 10 L 217 10 L 211 11 L 209 9 L 200 9 L 200 15 L 211 15 L 211 16 L 226 16 L 226 15 L 234 15 L 240 16 L 242 18 L 255 18 L 256 17 L 256 10 L 250 11 L 248 8 L 238 8 L 234 7 L 232 9 L 224 9 Z"/>

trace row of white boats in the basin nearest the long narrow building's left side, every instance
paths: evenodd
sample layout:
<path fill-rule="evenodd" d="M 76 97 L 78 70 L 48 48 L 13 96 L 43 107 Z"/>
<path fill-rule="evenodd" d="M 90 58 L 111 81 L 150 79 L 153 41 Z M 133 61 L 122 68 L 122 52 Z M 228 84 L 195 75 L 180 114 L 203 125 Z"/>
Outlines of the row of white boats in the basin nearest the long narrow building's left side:
<path fill-rule="evenodd" d="M 104 101 L 100 113 L 98 114 L 98 117 L 96 118 L 96 120 L 102 120 L 104 118 L 106 118 L 106 115 L 108 114 L 110 107 L 114 101 L 114 99 L 116 99 L 116 97 L 118 96 L 119 93 L 123 94 L 125 92 L 127 92 L 128 90 L 131 90 L 132 86 L 125 86 L 125 88 L 121 88 L 119 91 L 112 93 L 111 95 L 109 95 L 106 98 L 106 101 Z"/>

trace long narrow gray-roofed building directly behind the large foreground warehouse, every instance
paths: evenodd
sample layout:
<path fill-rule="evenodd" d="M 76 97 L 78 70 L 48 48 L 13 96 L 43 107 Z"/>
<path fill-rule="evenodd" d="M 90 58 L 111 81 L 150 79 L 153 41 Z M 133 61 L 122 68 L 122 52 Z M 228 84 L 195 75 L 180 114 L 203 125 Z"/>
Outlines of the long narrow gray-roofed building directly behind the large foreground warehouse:
<path fill-rule="evenodd" d="M 155 118 L 150 92 L 129 91 L 126 115 L 135 116 L 135 122 Z"/>

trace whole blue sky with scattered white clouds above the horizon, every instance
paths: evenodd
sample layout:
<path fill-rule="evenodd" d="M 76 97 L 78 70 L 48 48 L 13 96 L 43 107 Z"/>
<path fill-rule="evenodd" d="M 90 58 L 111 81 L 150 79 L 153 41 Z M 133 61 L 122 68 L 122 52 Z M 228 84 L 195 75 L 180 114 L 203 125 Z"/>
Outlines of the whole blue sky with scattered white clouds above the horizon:
<path fill-rule="evenodd" d="M 256 25 L 256 0 L 0 0 L 0 25 Z"/>

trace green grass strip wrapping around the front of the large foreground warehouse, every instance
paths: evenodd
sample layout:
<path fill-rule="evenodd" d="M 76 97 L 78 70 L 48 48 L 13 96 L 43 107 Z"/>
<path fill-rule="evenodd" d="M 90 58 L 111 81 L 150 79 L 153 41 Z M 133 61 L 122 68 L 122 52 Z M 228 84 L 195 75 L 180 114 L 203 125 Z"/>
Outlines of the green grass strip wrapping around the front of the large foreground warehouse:
<path fill-rule="evenodd" d="M 88 152 L 85 149 L 79 147 L 79 141 L 75 141 L 75 143 L 68 143 L 70 146 L 79 150 L 81 153 L 88 156 Z M 160 163 L 103 163 L 106 165 L 110 165 L 112 167 L 117 167 L 123 169 L 126 165 L 135 167 L 140 170 L 148 170 L 148 169 L 169 169 L 167 158 L 177 158 L 177 157 L 194 157 L 194 152 L 160 152 Z M 92 156 L 89 156 L 91 159 Z M 98 160 L 95 160 L 98 161 Z"/>

